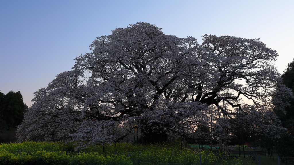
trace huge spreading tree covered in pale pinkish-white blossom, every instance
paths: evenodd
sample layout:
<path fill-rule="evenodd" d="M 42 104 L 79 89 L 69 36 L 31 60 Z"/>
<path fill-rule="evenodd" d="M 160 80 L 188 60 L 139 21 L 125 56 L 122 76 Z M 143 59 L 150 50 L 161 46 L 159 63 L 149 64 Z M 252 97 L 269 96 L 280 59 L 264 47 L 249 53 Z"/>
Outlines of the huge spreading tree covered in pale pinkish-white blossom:
<path fill-rule="evenodd" d="M 235 115 L 220 102 L 250 108 L 245 97 L 271 106 L 280 102 L 271 100 L 279 91 L 281 98 L 290 94 L 273 66 L 277 53 L 259 39 L 205 35 L 199 45 L 140 22 L 97 37 L 90 50 L 34 93 L 18 127 L 20 141 L 108 144 L 135 127 L 142 142 L 197 139 L 202 126 L 209 128 L 205 136 L 216 138 L 213 132 L 225 127 L 216 127 L 223 124 L 216 116 Z"/>

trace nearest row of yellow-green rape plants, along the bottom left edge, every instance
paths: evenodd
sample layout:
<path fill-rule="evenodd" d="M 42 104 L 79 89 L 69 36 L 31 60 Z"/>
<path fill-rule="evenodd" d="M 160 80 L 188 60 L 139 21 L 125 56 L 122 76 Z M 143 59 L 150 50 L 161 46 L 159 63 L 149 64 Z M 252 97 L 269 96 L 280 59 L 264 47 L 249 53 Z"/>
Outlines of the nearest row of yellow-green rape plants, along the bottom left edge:
<path fill-rule="evenodd" d="M 123 155 L 103 156 L 98 152 L 71 154 L 66 151 L 31 153 L 0 151 L 0 164 L 7 165 L 132 165 Z"/>

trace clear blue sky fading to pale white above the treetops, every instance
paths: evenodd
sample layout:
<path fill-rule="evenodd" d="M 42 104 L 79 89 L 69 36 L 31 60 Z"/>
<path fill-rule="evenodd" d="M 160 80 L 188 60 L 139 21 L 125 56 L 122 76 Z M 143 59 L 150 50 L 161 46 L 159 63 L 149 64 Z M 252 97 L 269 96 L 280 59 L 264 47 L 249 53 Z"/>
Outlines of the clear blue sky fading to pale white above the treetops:
<path fill-rule="evenodd" d="M 96 37 L 137 22 L 198 43 L 204 34 L 260 38 L 277 50 L 283 73 L 294 57 L 293 6 L 293 0 L 0 0 L 0 90 L 20 91 L 30 107 L 33 92 L 71 70 Z"/>

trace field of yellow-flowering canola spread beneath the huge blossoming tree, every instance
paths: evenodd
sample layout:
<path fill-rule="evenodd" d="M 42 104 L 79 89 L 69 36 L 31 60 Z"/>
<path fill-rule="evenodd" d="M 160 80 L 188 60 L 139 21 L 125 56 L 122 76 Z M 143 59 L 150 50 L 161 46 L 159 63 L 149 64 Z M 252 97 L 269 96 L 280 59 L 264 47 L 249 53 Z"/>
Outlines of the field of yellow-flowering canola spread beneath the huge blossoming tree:
<path fill-rule="evenodd" d="M 0 164 L 11 165 L 197 165 L 201 153 L 202 164 L 229 164 L 220 159 L 221 153 L 180 149 L 180 143 L 133 145 L 116 143 L 74 151 L 74 144 L 63 142 L 22 142 L 0 144 Z M 238 159 L 230 164 L 240 164 Z"/>

